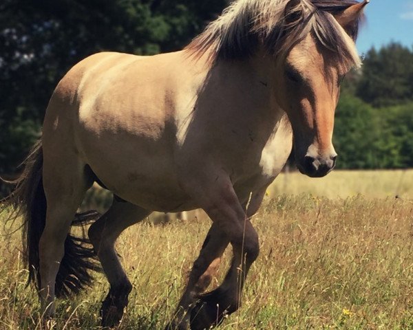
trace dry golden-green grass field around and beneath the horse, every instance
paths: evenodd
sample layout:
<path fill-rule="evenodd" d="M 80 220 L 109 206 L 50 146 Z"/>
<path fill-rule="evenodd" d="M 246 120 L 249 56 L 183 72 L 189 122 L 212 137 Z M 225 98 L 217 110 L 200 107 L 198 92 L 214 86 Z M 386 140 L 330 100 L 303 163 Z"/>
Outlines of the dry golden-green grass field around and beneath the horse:
<path fill-rule="evenodd" d="M 412 174 L 338 172 L 313 188 L 304 176 L 277 179 L 253 219 L 261 254 L 244 305 L 220 329 L 413 329 Z M 190 219 L 146 221 L 119 240 L 134 284 L 119 329 L 165 327 L 209 229 L 202 217 Z M 0 329 L 41 329 L 36 294 L 25 288 L 19 232 L 1 226 L 1 242 Z M 231 249 L 226 254 L 229 260 Z M 54 329 L 99 329 L 106 292 L 97 274 L 87 292 L 59 300 Z"/>

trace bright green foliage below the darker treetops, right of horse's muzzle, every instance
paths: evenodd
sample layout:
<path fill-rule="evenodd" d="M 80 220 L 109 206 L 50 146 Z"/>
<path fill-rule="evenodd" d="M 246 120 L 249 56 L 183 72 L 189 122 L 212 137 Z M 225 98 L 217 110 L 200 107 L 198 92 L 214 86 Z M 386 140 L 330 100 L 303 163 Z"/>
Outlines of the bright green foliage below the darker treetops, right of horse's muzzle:
<path fill-rule="evenodd" d="M 351 94 L 337 107 L 334 144 L 337 168 L 413 166 L 413 102 L 374 108 Z"/>

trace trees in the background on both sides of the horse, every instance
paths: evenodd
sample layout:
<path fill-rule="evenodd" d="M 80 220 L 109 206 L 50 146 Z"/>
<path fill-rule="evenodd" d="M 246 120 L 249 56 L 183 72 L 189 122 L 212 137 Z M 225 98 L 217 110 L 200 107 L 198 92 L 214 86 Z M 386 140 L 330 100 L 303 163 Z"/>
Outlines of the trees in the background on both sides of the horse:
<path fill-rule="evenodd" d="M 0 3 L 0 174 L 39 138 L 61 77 L 101 51 L 179 50 L 228 0 L 3 0 Z M 370 50 L 337 108 L 340 168 L 413 166 L 413 50 Z"/>

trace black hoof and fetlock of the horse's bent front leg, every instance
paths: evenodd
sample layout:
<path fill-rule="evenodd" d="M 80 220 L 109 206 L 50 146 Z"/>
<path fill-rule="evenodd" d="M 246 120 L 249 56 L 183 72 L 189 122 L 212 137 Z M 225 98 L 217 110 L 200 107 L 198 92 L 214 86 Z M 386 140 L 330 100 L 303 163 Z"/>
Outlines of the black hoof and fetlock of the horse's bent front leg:
<path fill-rule="evenodd" d="M 220 289 L 200 296 L 191 311 L 191 330 L 204 330 L 218 327 L 225 316 L 237 310 L 237 304 L 230 302 L 229 295 Z"/>

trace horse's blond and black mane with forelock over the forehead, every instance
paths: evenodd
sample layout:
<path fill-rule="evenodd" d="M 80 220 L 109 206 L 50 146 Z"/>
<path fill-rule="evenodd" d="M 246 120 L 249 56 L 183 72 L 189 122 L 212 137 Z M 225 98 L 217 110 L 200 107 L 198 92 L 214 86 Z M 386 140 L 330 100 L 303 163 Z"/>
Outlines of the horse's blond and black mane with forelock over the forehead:
<path fill-rule="evenodd" d="M 235 0 L 208 25 L 187 50 L 195 56 L 208 52 L 211 63 L 242 59 L 264 47 L 275 57 L 286 56 L 308 33 L 332 51 L 345 67 L 361 65 L 354 45 L 359 21 L 344 30 L 333 14 L 354 0 Z"/>

